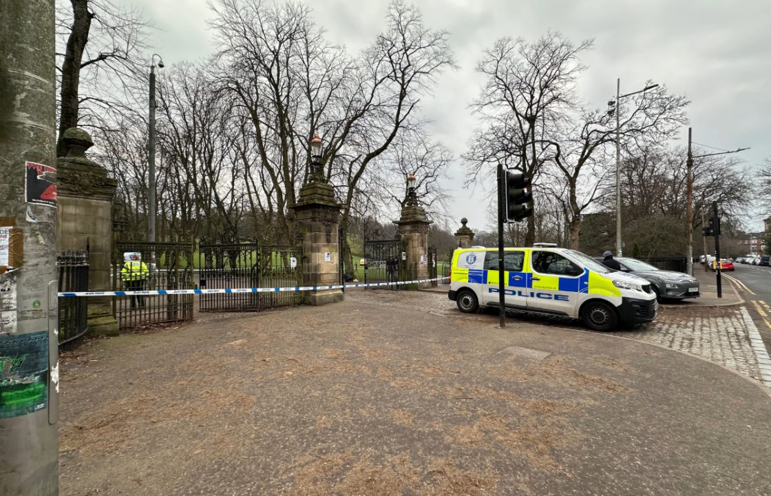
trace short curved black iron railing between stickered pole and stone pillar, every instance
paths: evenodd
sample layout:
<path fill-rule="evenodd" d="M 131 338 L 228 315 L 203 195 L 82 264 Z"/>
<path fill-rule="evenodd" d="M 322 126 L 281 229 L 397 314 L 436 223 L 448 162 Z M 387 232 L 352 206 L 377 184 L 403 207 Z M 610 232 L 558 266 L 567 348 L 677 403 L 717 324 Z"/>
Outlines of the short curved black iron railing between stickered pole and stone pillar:
<path fill-rule="evenodd" d="M 64 251 L 56 257 L 59 268 L 59 292 L 89 290 L 89 252 L 87 250 Z M 59 299 L 59 348 L 72 349 L 89 331 L 89 299 Z"/>

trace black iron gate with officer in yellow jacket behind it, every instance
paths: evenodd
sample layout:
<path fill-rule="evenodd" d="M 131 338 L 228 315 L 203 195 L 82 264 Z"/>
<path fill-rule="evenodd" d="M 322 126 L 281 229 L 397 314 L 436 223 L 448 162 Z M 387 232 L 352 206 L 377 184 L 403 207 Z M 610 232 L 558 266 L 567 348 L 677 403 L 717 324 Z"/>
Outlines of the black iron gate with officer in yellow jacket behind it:
<path fill-rule="evenodd" d="M 116 291 L 192 289 L 193 246 L 184 243 L 119 242 L 113 255 Z M 130 270 L 126 253 L 140 253 L 142 268 Z M 193 319 L 193 295 L 116 296 L 113 312 L 121 329 Z"/>

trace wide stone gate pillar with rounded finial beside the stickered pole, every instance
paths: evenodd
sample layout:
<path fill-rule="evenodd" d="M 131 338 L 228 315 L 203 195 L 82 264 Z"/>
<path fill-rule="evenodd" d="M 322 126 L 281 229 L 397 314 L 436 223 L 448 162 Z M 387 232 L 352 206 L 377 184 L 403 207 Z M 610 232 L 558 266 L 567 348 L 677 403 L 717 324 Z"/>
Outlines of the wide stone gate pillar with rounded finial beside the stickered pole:
<path fill-rule="evenodd" d="M 66 156 L 56 159 L 59 250 L 83 250 L 89 245 L 89 291 L 111 291 L 113 252 L 113 195 L 118 182 L 107 170 L 86 157 L 93 146 L 89 133 L 77 127 L 65 130 Z M 118 334 L 109 296 L 89 298 L 89 333 Z"/>

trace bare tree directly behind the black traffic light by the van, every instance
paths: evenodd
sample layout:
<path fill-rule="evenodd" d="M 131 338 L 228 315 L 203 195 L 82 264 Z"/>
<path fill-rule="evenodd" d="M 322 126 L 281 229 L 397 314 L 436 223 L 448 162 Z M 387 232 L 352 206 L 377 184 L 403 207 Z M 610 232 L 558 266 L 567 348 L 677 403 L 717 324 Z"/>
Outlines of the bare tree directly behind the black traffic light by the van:
<path fill-rule="evenodd" d="M 463 155 L 471 170 L 469 181 L 501 163 L 523 170 L 537 183 L 550 158 L 547 140 L 577 105 L 575 83 L 584 70 L 579 56 L 591 46 L 591 40 L 574 45 L 549 32 L 533 43 L 499 39 L 484 52 L 476 70 L 485 83 L 471 106 L 481 126 Z M 525 243 L 532 243 L 535 234 L 531 216 Z"/>

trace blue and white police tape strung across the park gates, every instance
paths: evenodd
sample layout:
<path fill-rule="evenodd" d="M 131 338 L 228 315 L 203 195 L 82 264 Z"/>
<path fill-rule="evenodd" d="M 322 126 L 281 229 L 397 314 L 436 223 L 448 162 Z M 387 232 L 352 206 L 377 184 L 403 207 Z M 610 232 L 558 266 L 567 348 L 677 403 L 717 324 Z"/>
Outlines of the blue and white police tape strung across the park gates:
<path fill-rule="evenodd" d="M 81 291 L 60 292 L 59 296 L 153 296 L 153 295 L 227 295 L 237 293 L 274 293 L 274 292 L 300 292 L 300 291 L 325 291 L 326 289 L 350 289 L 350 288 L 382 288 L 384 286 L 399 286 L 406 284 L 423 284 L 424 282 L 443 281 L 449 277 L 437 277 L 432 279 L 416 279 L 415 281 L 396 282 L 367 282 L 365 284 L 335 284 L 328 286 L 291 286 L 288 288 L 223 288 L 223 289 L 146 289 L 143 291 Z"/>

